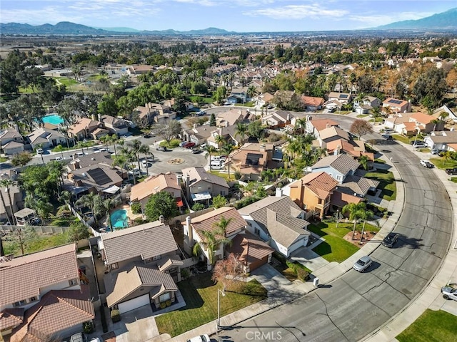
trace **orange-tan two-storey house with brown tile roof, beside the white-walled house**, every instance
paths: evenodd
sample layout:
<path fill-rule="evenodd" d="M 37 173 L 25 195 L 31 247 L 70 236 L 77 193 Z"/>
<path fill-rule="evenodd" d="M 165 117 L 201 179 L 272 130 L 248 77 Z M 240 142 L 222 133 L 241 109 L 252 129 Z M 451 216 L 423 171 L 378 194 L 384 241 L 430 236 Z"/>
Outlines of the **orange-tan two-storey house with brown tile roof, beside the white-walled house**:
<path fill-rule="evenodd" d="M 308 216 L 323 217 L 330 208 L 338 182 L 326 172 L 308 173 L 290 185 L 290 197 Z"/>

